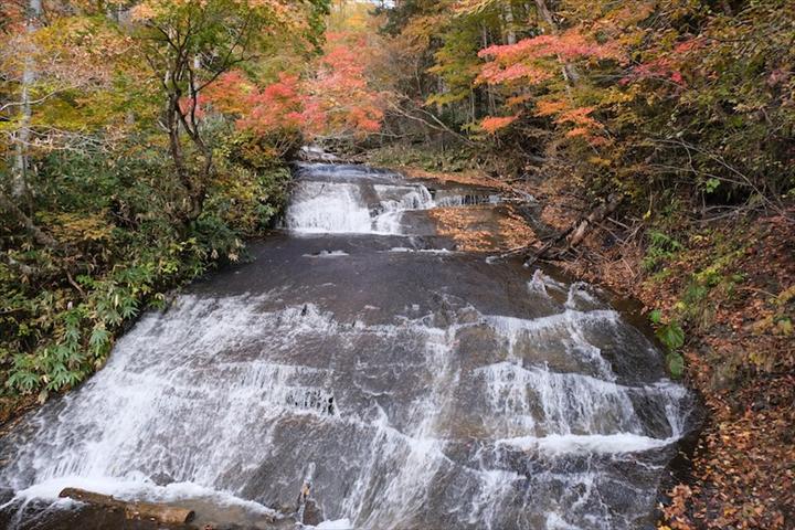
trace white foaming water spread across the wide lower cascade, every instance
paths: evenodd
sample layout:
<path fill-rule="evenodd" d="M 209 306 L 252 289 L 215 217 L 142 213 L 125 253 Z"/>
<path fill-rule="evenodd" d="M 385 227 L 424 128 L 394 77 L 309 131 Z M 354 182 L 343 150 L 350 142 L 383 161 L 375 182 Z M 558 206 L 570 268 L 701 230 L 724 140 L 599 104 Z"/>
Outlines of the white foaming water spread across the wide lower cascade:
<path fill-rule="evenodd" d="M 582 341 L 573 337 L 585 324 L 618 325 L 614 311 L 529 320 L 456 307 L 451 296 L 444 318 L 426 312 L 426 301 L 406 300 L 394 321 L 369 325 L 356 315 L 340 321 L 320 303 L 296 304 L 295 297 L 285 307 L 285 298 L 283 292 L 182 296 L 165 315 L 145 315 L 108 364 L 57 403 L 57 416 L 43 414 L 28 425 L 33 434 L 11 452 L 2 484 L 24 488 L 21 498 L 52 499 L 68 486 L 165 502 L 211 499 L 265 513 L 268 508 L 236 495 L 284 495 L 290 502 L 293 491 L 254 488 L 288 484 L 306 476 L 300 466 L 317 463 L 322 473 L 312 477 L 314 494 L 327 515 L 347 518 L 317 528 L 396 528 L 395 521 L 426 517 L 424 510 L 438 504 L 452 524 L 499 529 L 506 512 L 545 517 L 571 508 L 550 506 L 556 497 L 517 497 L 528 467 L 500 460 L 507 454 L 501 446 L 553 456 L 635 453 L 676 439 L 683 424 L 687 394 L 670 381 L 622 385 L 611 373 L 526 368 L 489 357 L 490 350 L 476 362 L 491 363 L 474 369 L 473 358 L 456 349 L 470 328 L 496 341 Z M 542 332 L 550 329 L 555 332 Z M 653 430 L 635 411 L 636 394 L 643 412 L 655 416 Z M 471 431 L 464 431 L 471 418 L 463 404 L 477 409 Z M 462 433 L 480 444 L 477 455 L 457 451 L 469 442 Z M 338 444 L 350 451 L 338 453 Z M 263 486 L 257 480 L 265 463 L 278 465 Z M 576 476 L 566 468 L 560 484 L 614 473 L 598 466 Z M 158 473 L 180 483 L 156 486 L 147 476 Z M 448 477 L 460 487 L 455 496 L 434 489 Z M 328 494 L 341 481 L 344 498 Z"/>

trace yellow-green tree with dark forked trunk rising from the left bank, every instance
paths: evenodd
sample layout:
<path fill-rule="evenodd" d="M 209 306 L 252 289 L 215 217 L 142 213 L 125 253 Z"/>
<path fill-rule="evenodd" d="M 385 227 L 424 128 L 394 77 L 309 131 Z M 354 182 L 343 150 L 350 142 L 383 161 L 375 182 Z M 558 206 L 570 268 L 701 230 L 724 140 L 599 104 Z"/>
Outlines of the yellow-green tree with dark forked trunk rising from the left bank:
<path fill-rule="evenodd" d="M 145 0 L 134 8 L 132 19 L 140 25 L 136 39 L 166 99 L 162 125 L 187 195 L 180 212 L 183 223 L 201 214 L 213 173 L 212 146 L 198 113 L 202 91 L 234 66 L 285 42 L 311 43 L 318 15 L 327 9 L 325 0 Z M 193 146 L 198 165 L 188 158 L 182 135 Z"/>

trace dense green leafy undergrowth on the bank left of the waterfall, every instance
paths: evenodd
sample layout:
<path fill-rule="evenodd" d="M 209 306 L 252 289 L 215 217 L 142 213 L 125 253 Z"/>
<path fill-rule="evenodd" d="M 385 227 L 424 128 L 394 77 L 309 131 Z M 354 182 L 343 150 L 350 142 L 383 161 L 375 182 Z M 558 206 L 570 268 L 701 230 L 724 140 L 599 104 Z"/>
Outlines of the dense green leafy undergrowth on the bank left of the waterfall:
<path fill-rule="evenodd" d="M 186 226 L 174 222 L 181 193 L 160 149 L 35 161 L 32 219 L 60 244 L 31 243 L 19 223 L 0 227 L 3 394 L 44 400 L 75 386 L 142 310 L 167 305 L 170 289 L 245 257 L 245 239 L 284 206 L 289 171 L 256 140 L 218 127 L 216 171 L 202 214 Z"/>

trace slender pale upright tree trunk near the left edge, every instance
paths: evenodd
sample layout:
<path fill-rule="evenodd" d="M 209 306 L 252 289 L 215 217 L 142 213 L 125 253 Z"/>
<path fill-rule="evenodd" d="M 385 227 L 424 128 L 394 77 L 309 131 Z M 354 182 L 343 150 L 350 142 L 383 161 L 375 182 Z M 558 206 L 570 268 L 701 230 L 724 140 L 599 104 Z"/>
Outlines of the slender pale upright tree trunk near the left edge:
<path fill-rule="evenodd" d="M 17 132 L 17 153 L 13 168 L 13 177 L 11 182 L 11 195 L 19 200 L 28 194 L 28 170 L 30 161 L 28 159 L 28 145 L 31 139 L 31 85 L 35 81 L 35 70 L 33 64 L 33 33 L 35 33 L 39 20 L 42 13 L 41 0 L 30 0 L 28 3 L 28 20 L 25 29 L 28 32 L 29 49 L 24 51 L 24 70 L 22 72 L 22 106 L 20 109 L 20 127 Z"/>

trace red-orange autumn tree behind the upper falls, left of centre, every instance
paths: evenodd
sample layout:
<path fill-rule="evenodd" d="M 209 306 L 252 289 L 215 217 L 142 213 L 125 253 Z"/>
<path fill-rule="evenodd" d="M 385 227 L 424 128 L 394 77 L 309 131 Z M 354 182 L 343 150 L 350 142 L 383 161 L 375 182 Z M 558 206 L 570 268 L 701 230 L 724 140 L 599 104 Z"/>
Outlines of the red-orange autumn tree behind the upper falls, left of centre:
<path fill-rule="evenodd" d="M 361 140 L 378 132 L 384 95 L 370 67 L 381 41 L 370 9 L 336 2 L 322 44 L 306 65 L 224 73 L 200 95 L 198 115 L 230 117 L 239 131 L 278 156 L 298 141 Z"/>

